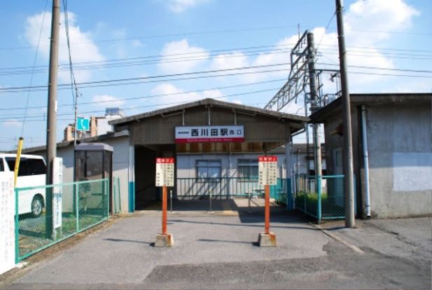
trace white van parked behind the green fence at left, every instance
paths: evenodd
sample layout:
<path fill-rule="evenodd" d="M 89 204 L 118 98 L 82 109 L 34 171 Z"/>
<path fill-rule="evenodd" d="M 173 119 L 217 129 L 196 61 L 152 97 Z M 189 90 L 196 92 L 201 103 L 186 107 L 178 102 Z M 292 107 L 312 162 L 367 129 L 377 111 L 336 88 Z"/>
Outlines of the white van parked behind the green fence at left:
<path fill-rule="evenodd" d="M 13 172 L 16 154 L 0 153 L 0 172 Z M 22 154 L 18 170 L 17 188 L 46 185 L 46 163 L 42 156 Z M 45 188 L 20 191 L 18 214 L 37 217 L 45 207 Z"/>

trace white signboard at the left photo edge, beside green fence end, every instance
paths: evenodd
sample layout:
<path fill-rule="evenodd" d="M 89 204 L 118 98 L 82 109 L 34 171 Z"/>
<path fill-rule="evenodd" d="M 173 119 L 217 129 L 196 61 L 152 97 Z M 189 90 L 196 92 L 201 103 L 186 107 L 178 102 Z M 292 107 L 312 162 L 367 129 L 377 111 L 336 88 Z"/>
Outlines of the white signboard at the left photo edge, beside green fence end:
<path fill-rule="evenodd" d="M 15 267 L 13 172 L 0 172 L 0 274 Z"/>

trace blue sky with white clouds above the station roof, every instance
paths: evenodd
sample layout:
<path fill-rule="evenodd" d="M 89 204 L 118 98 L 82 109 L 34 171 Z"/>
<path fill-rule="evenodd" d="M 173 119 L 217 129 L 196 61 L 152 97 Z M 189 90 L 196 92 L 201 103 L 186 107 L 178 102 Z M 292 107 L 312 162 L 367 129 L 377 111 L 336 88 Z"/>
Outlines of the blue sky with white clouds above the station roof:
<path fill-rule="evenodd" d="M 204 97 L 263 107 L 288 78 L 298 25 L 300 32 L 314 32 L 319 43 L 317 67 L 336 68 L 334 2 L 68 1 L 79 116 L 103 116 L 113 106 L 130 116 Z M 46 0 L 0 3 L 0 150 L 15 148 L 21 135 L 25 147 L 46 142 L 51 5 Z M 432 91 L 432 1 L 345 0 L 344 6 L 350 92 Z M 63 18 L 60 33 L 58 81 L 68 84 Z M 256 68 L 227 71 L 244 67 Z M 190 75 L 196 71 L 216 72 Z M 219 76 L 190 78 L 209 75 Z M 112 82 L 124 78 L 132 80 Z M 111 82 L 92 83 L 98 81 Z M 41 87 L 10 89 L 31 84 Z M 333 92 L 326 85 L 324 90 Z M 73 123 L 70 87 L 59 88 L 57 99 L 60 140 Z M 300 104 L 284 110 L 303 113 Z"/>

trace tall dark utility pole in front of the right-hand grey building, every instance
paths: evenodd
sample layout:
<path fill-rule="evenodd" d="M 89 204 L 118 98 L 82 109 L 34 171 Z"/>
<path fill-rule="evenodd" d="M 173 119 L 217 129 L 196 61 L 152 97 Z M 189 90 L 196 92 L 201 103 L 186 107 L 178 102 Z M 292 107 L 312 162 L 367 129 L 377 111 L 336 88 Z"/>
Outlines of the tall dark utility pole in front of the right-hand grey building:
<path fill-rule="evenodd" d="M 352 132 L 351 132 L 351 104 L 349 101 L 347 50 L 344 39 L 344 20 L 342 16 L 341 0 L 336 0 L 337 41 L 339 43 L 340 80 L 342 84 L 342 113 L 344 121 L 343 165 L 344 165 L 344 198 L 345 198 L 345 227 L 354 227 L 354 169 L 352 162 Z"/>

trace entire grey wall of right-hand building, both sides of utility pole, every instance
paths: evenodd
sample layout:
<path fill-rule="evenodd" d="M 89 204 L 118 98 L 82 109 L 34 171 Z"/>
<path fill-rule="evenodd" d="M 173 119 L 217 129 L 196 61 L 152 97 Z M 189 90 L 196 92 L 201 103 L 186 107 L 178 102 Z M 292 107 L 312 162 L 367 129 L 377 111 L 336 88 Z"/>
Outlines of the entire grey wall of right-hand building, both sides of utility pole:
<path fill-rule="evenodd" d="M 372 217 L 431 214 L 431 106 L 405 103 L 375 104 L 366 108 Z M 351 122 L 357 212 L 364 213 L 360 106 L 351 108 Z M 335 165 L 335 150 L 342 149 L 343 140 L 335 130 L 341 123 L 341 113 L 325 123 L 328 174 L 342 174 Z"/>

